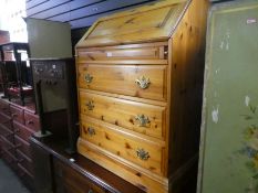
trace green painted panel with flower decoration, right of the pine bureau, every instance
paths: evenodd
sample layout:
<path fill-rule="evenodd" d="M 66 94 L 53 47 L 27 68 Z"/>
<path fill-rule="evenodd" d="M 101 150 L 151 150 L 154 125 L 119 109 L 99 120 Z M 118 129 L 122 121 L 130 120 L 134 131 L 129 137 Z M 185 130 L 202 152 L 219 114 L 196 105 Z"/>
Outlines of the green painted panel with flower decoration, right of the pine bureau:
<path fill-rule="evenodd" d="M 258 0 L 208 19 L 198 193 L 258 193 Z"/>

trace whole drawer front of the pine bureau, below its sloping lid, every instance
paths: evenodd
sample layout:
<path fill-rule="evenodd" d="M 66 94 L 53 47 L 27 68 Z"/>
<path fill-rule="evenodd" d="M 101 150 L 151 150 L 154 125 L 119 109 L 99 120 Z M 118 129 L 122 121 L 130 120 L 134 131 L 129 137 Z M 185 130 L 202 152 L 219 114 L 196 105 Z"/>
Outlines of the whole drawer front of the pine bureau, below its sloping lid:
<path fill-rule="evenodd" d="M 87 147 L 146 173 L 165 174 L 166 51 L 165 42 L 79 50 L 80 152 Z M 118 64 L 120 58 L 128 64 Z M 92 64 L 106 60 L 117 63 Z"/>

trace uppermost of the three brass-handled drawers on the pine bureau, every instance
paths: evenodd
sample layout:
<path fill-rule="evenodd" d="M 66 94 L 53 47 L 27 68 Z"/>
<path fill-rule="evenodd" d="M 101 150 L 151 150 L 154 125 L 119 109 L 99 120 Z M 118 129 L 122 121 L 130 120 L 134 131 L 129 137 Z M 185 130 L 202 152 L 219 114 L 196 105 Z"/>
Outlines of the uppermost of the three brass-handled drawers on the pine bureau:
<path fill-rule="evenodd" d="M 166 66 L 80 65 L 81 88 L 166 100 Z"/>

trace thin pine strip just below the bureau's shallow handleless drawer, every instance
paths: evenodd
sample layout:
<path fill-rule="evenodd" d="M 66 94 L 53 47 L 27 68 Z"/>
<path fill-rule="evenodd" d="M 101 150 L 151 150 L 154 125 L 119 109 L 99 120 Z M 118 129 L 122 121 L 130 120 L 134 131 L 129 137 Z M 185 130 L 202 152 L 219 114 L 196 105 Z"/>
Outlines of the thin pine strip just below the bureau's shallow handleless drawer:
<path fill-rule="evenodd" d="M 140 64 L 148 64 L 148 65 L 167 65 L 167 60 L 128 60 L 128 61 L 122 61 L 122 60 L 116 60 L 116 61 L 87 61 L 80 58 L 80 55 L 78 56 L 78 64 L 115 64 L 115 65 L 121 65 L 121 64 L 133 64 L 133 65 L 140 65 Z"/>

